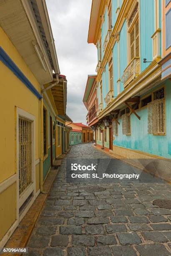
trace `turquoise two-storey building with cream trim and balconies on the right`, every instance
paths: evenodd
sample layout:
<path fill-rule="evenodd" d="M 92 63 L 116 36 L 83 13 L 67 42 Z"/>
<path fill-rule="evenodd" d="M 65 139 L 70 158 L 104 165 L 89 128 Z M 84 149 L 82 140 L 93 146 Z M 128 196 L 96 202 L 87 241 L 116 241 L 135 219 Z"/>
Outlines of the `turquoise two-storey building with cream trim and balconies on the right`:
<path fill-rule="evenodd" d="M 97 145 L 123 157 L 171 159 L 170 4 L 92 0 L 99 122 L 92 125 Z"/>

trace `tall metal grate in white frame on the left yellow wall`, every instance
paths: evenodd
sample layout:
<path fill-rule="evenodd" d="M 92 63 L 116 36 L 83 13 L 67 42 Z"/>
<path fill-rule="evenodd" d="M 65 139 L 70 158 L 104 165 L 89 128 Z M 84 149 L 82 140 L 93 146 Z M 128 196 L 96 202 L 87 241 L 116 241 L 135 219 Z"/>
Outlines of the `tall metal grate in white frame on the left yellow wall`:
<path fill-rule="evenodd" d="M 19 118 L 19 193 L 32 182 L 32 122 Z"/>

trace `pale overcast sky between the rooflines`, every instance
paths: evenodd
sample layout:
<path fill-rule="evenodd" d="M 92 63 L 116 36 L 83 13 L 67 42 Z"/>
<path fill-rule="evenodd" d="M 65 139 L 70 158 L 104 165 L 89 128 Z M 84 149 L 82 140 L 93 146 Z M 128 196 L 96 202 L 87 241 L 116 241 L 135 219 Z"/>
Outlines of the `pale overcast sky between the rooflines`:
<path fill-rule="evenodd" d="M 92 0 L 46 0 L 60 74 L 67 83 L 67 115 L 86 124 L 83 95 L 88 74 L 96 74 L 97 49 L 87 43 Z"/>

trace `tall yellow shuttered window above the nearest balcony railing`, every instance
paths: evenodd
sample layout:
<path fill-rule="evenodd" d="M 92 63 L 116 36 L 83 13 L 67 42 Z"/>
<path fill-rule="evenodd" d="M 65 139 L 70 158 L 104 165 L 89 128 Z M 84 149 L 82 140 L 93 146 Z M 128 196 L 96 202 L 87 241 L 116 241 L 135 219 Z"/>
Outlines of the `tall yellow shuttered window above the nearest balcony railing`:
<path fill-rule="evenodd" d="M 130 61 L 139 57 L 139 23 L 138 19 L 136 20 L 133 28 L 130 32 Z"/>

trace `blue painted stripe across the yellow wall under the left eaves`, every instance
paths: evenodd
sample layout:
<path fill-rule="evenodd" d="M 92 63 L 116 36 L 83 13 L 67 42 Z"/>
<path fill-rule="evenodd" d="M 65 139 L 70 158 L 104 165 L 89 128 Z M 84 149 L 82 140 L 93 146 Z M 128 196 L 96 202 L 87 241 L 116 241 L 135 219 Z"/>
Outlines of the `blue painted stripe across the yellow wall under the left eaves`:
<path fill-rule="evenodd" d="M 27 79 L 27 77 L 23 74 L 23 72 L 17 67 L 14 61 L 10 58 L 10 56 L 3 50 L 0 46 L 0 60 L 20 79 L 23 84 L 25 84 L 28 89 L 33 92 L 33 94 L 41 99 L 42 95 L 35 89 L 33 84 Z"/>

